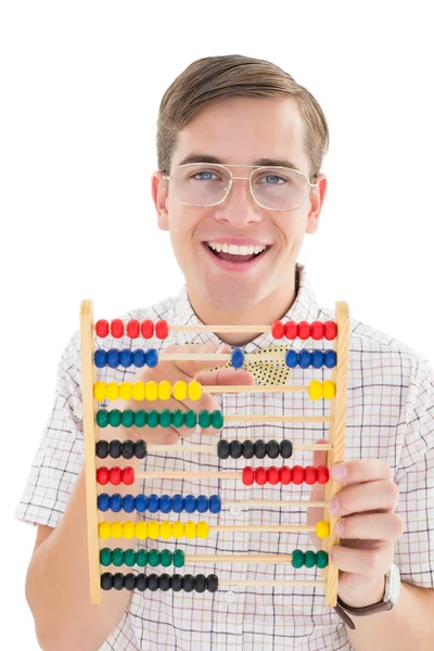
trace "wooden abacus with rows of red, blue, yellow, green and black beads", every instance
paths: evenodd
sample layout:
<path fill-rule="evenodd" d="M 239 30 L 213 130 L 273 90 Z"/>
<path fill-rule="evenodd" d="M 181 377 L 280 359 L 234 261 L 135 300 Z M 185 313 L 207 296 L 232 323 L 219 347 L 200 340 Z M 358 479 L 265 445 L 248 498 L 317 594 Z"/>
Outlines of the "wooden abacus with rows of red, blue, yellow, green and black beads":
<path fill-rule="evenodd" d="M 266 353 L 260 355 L 245 354 L 241 348 L 233 348 L 231 354 L 180 354 L 180 353 L 158 353 L 155 348 L 144 350 L 142 348 L 124 348 L 118 350 L 112 348 L 105 350 L 99 348 L 95 350 L 94 337 L 106 337 L 111 334 L 115 339 L 120 339 L 125 334 L 131 340 L 142 337 L 150 340 L 157 337 L 165 340 L 169 332 L 175 331 L 196 331 L 196 332 L 252 332 L 260 333 L 268 332 L 275 339 L 294 341 L 299 337 L 302 341 L 312 339 L 314 341 L 327 340 L 334 341 L 334 348 L 322 350 L 316 348 L 308 350 L 304 348 L 299 352 L 288 349 L 284 355 L 276 353 Z M 85 473 L 86 473 L 86 495 L 87 495 L 87 522 L 88 522 L 88 551 L 89 551 L 89 567 L 90 567 L 90 596 L 92 603 L 101 603 L 101 590 L 128 589 L 128 590 L 145 590 L 151 591 L 173 590 L 173 591 L 192 591 L 204 592 L 208 590 L 214 592 L 219 587 L 228 585 L 239 586 L 318 586 L 326 590 L 326 602 L 329 608 L 336 605 L 337 597 L 337 577 L 339 570 L 329 559 L 329 549 L 339 545 L 339 537 L 335 532 L 339 516 L 332 515 L 329 512 L 328 503 L 341 489 L 342 484 L 331 477 L 330 469 L 334 463 L 344 461 L 345 449 L 345 416 L 346 416 L 346 392 L 347 392 L 347 365 L 348 365 L 348 344 L 349 344 L 349 311 L 348 305 L 345 302 L 335 304 L 335 321 L 312 321 L 308 323 L 301 321 L 276 321 L 271 326 L 171 326 L 167 321 L 159 320 L 153 322 L 149 319 L 139 322 L 137 319 L 131 319 L 124 322 L 120 319 L 114 319 L 110 323 L 105 319 L 93 323 L 93 307 L 91 301 L 82 301 L 80 307 L 80 342 L 81 342 L 81 372 L 82 372 L 82 404 L 84 404 L 84 427 L 85 427 Z M 210 362 L 231 361 L 235 369 L 241 369 L 245 361 L 272 361 L 277 363 L 285 363 L 288 367 L 294 368 L 321 368 L 328 367 L 332 369 L 332 379 L 319 382 L 312 380 L 307 386 L 302 385 L 230 385 L 230 386 L 206 386 L 208 393 L 233 393 L 233 392 L 307 392 L 312 400 L 326 399 L 330 404 L 329 416 L 279 416 L 279 414 L 231 414 L 224 416 L 222 411 L 216 410 L 213 412 L 202 410 L 199 413 L 194 410 L 156 410 L 148 411 L 126 409 L 99 409 L 98 403 L 101 400 L 164 400 L 171 396 L 183 400 L 188 396 L 191 400 L 199 400 L 202 396 L 202 386 L 193 380 L 189 384 L 178 381 L 173 386 L 168 381 L 159 383 L 150 382 L 129 382 L 123 383 L 104 383 L 97 381 L 97 369 L 104 366 L 112 368 L 135 366 L 137 368 L 149 366 L 155 367 L 158 363 L 158 356 L 165 360 L 180 361 L 187 359 L 209 360 Z M 193 445 L 193 444 L 177 444 L 177 445 L 157 445 L 146 444 L 144 439 L 132 441 L 116 441 L 111 442 L 100 438 L 100 431 L 107 425 L 125 427 L 135 424 L 137 427 L 155 427 L 155 426 L 187 426 L 195 427 L 197 424 L 201 427 L 213 426 L 216 430 L 221 430 L 225 422 L 234 421 L 279 421 L 279 422 L 323 422 L 329 425 L 329 443 L 327 444 L 306 444 L 293 445 L 289 439 L 281 442 L 269 441 L 226 441 L 219 439 L 217 445 Z M 327 450 L 327 464 L 317 468 L 307 465 L 281 465 L 279 468 L 271 465 L 270 468 L 253 468 L 245 467 L 237 472 L 224 471 L 197 471 L 197 472 L 152 472 L 144 471 L 136 473 L 131 467 L 123 469 L 113 467 L 107 469 L 104 465 L 97 468 L 97 460 L 106 457 L 131 459 L 144 459 L 146 455 L 152 452 L 168 451 L 182 454 L 184 451 L 197 452 L 204 455 L 217 454 L 220 459 L 244 458 L 252 459 L 254 457 L 264 459 L 277 459 L 279 456 L 285 460 L 292 457 L 293 452 L 298 450 Z M 321 507 L 323 508 L 323 519 L 316 525 L 213 525 L 207 521 L 181 521 L 158 522 L 155 520 L 137 522 L 107 522 L 101 520 L 104 518 L 104 512 L 112 510 L 118 512 L 124 509 L 126 512 L 137 511 L 143 513 L 148 510 L 150 513 L 175 513 L 179 514 L 182 511 L 187 513 L 197 512 L 200 514 L 209 512 L 210 514 L 219 513 L 221 509 L 221 499 L 218 495 L 194 497 L 192 495 L 182 496 L 168 495 L 126 495 L 122 497 L 119 494 L 108 495 L 101 493 L 99 487 L 106 484 L 118 485 L 124 483 L 132 485 L 138 478 L 176 478 L 183 477 L 214 477 L 214 478 L 239 478 L 244 485 L 276 485 L 278 483 L 299 485 L 302 483 L 326 485 L 326 496 L 323 501 L 307 501 L 307 500 L 242 500 L 244 506 L 261 507 Z M 231 500 L 231 503 L 233 501 Z M 240 502 L 241 503 L 241 502 Z M 221 531 L 243 531 L 243 532 L 306 532 L 316 533 L 318 538 L 322 539 L 322 549 L 317 552 L 307 550 L 303 552 L 299 549 L 293 551 L 292 554 L 187 554 L 182 549 L 170 551 L 164 550 L 144 550 L 140 549 L 137 552 L 133 549 L 111 549 L 108 547 L 100 548 L 100 539 L 108 538 L 139 538 L 139 539 L 156 539 L 163 538 L 176 540 L 182 538 L 206 538 L 215 532 Z M 108 565 L 115 566 L 127 565 L 129 567 L 138 565 L 144 567 L 150 565 L 155 567 L 161 564 L 163 567 L 173 565 L 175 569 L 183 567 L 188 563 L 194 562 L 210 562 L 210 563 L 281 563 L 292 564 L 294 569 L 305 565 L 306 567 L 318 566 L 321 571 L 321 579 L 296 580 L 296 579 L 277 579 L 277 580 L 219 580 L 216 574 L 146 574 L 144 572 L 123 574 L 116 572 L 103 571 Z"/>

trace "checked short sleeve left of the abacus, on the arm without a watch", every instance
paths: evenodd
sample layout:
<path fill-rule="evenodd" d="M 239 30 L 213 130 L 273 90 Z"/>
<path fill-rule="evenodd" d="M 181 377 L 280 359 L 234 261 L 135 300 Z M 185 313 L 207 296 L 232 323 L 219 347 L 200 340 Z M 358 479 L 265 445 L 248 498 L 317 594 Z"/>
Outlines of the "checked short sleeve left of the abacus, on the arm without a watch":
<path fill-rule="evenodd" d="M 66 344 L 54 399 L 14 516 L 55 527 L 65 512 L 84 463 L 79 332 Z"/>

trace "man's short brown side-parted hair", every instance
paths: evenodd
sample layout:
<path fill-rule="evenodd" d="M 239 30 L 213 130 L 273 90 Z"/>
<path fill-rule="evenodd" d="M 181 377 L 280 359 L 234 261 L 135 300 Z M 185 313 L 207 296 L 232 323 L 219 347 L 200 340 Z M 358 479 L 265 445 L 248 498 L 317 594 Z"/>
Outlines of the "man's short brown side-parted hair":
<path fill-rule="evenodd" d="M 242 54 L 193 61 L 168 87 L 157 120 L 158 169 L 170 174 L 178 132 L 205 102 L 224 97 L 291 98 L 305 124 L 309 179 L 316 178 L 329 149 L 329 127 L 314 95 L 276 64 Z"/>

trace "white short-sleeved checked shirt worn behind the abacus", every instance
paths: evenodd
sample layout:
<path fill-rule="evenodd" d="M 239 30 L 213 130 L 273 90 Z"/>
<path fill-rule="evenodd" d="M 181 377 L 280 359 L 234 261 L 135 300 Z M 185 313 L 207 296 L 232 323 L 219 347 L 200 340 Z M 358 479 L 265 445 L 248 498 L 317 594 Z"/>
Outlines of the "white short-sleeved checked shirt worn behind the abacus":
<path fill-rule="evenodd" d="M 296 322 L 334 318 L 334 308 L 317 305 L 304 266 L 298 265 L 299 288 L 285 319 Z M 102 316 L 102 315 L 101 315 Z M 136 318 L 166 319 L 173 324 L 201 324 L 193 311 L 187 288 L 149 308 L 123 315 L 123 320 Z M 266 321 L 266 319 L 264 319 Z M 152 346 L 212 342 L 221 340 L 214 333 L 175 332 L 164 342 L 153 340 Z M 97 347 L 132 347 L 143 345 L 123 340 L 97 340 Z M 276 345 L 268 333 L 260 334 L 243 349 L 245 353 Z M 281 342 L 279 342 L 281 343 Z M 295 340 L 293 347 L 322 347 L 322 342 Z M 327 343 L 327 342 L 323 342 Z M 292 342 L 291 342 L 292 344 Z M 327 346 L 324 346 L 327 347 Z M 105 382 L 123 382 L 135 374 L 129 369 L 98 369 Z M 330 378 L 330 369 L 293 369 L 290 384 L 307 384 L 312 379 Z M 84 462 L 82 406 L 80 388 L 79 333 L 67 343 L 59 365 L 52 411 L 31 465 L 27 484 L 15 516 L 24 522 L 55 527 L 67 507 L 77 475 Z M 330 403 L 310 400 L 302 392 L 269 394 L 215 394 L 224 413 L 329 413 Z M 108 407 L 110 403 L 102 403 Z M 294 444 L 314 443 L 327 437 L 327 423 L 260 423 L 239 422 L 225 425 L 222 438 L 257 439 L 291 438 Z M 217 437 L 215 437 L 217 438 Z M 208 443 L 206 431 L 200 429 L 192 443 Z M 355 319 L 350 320 L 348 362 L 348 395 L 345 458 L 384 459 L 399 486 L 397 512 L 404 518 L 405 532 L 395 546 L 395 562 L 404 582 L 434 587 L 434 372 L 426 359 L 403 342 Z M 253 460 L 252 460 L 253 461 Z M 257 464 L 267 465 L 264 461 Z M 295 452 L 295 464 L 311 463 L 311 452 Z M 241 470 L 243 459 L 220 460 L 217 455 L 150 454 L 143 460 L 146 470 Z M 252 462 L 250 462 L 252 463 Z M 268 465 L 271 465 L 268 463 Z M 210 524 L 305 524 L 306 509 L 228 506 L 237 499 L 308 499 L 310 487 L 303 484 L 277 486 L 244 486 L 230 480 L 153 480 L 139 481 L 131 487 L 135 495 L 212 495 L 219 494 L 222 510 L 208 516 L 181 513 L 183 521 L 196 518 Z M 101 514 L 101 520 L 108 514 Z M 115 514 L 110 513 L 113 520 Z M 145 512 L 145 519 L 155 519 Z M 174 514 L 171 514 L 174 515 Z M 85 516 L 85 513 L 84 513 Z M 139 515 L 139 518 L 142 515 Z M 158 519 L 158 515 L 156 516 Z M 169 516 L 159 514 L 161 520 Z M 175 520 L 171 518 L 170 520 Z M 291 553 L 294 549 L 312 549 L 308 536 L 302 533 L 210 533 L 207 539 L 136 540 L 136 548 L 164 549 L 179 547 L 194 553 Z M 131 545 L 132 546 L 132 545 Z M 168 569 L 170 572 L 170 569 Z M 120 571 L 129 571 L 120 569 Z M 167 572 L 167 570 L 162 570 Z M 158 570 L 157 570 L 158 572 Z M 179 572 L 179 571 L 178 571 Z M 294 570 L 291 565 L 275 564 L 189 564 L 181 573 L 219 578 L 320 578 L 316 567 Z M 128 609 L 101 650 L 128 651 L 139 649 L 164 651 L 187 650 L 248 650 L 330 651 L 349 650 L 343 622 L 326 605 L 322 588 L 230 587 L 215 593 L 133 591 Z"/>

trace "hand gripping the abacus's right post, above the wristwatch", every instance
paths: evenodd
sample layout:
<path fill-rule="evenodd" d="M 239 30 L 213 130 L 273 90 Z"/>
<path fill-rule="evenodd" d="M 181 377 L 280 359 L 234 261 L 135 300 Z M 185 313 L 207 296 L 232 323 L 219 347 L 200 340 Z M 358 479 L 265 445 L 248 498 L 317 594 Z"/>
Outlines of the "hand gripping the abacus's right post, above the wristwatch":
<path fill-rule="evenodd" d="M 324 442 L 322 438 L 317 443 Z M 314 451 L 314 465 L 320 463 L 327 463 L 327 452 Z M 383 599 L 384 575 L 393 563 L 395 542 L 404 532 L 404 521 L 394 512 L 399 489 L 391 478 L 390 467 L 380 459 L 335 464 L 332 477 L 343 483 L 329 505 L 332 515 L 340 516 L 336 534 L 341 544 L 330 550 L 331 561 L 340 570 L 337 593 L 348 605 L 370 605 Z M 311 500 L 323 500 L 324 495 L 324 485 L 312 486 Z M 307 511 L 309 524 L 323 519 L 322 508 Z M 310 537 L 320 549 L 322 541 L 314 534 Z"/>

